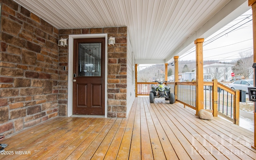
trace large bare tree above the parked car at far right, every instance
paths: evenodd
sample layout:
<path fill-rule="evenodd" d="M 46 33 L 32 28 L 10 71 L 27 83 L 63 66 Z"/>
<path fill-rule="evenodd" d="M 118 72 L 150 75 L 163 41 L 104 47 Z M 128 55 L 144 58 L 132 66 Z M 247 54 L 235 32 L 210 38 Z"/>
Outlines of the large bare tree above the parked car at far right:
<path fill-rule="evenodd" d="M 243 75 L 244 78 L 248 78 L 252 73 L 253 54 L 252 51 L 240 52 L 240 59 L 236 62 L 233 67 L 233 71 L 237 75 Z"/>

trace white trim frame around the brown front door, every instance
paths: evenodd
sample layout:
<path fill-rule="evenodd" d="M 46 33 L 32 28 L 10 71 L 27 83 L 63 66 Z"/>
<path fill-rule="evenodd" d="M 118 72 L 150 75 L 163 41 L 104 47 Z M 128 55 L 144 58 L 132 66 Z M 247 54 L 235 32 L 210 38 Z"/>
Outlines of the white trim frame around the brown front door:
<path fill-rule="evenodd" d="M 71 34 L 68 37 L 68 117 L 72 116 L 72 105 L 73 105 L 73 47 L 74 39 L 77 38 L 105 38 L 105 118 L 107 117 L 108 111 L 108 34 Z M 77 115 L 74 115 L 77 116 Z M 84 115 L 86 116 L 86 115 Z M 95 116 L 99 117 L 99 116 Z M 100 116 L 102 117 L 102 116 Z"/>

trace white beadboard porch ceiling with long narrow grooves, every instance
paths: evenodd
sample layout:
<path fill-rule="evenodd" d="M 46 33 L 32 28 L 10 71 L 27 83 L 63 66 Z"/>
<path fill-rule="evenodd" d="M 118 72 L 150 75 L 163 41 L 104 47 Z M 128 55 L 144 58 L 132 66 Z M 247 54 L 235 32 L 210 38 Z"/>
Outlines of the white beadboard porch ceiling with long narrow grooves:
<path fill-rule="evenodd" d="M 59 29 L 127 26 L 137 64 L 167 63 L 250 8 L 247 0 L 14 0 Z"/>

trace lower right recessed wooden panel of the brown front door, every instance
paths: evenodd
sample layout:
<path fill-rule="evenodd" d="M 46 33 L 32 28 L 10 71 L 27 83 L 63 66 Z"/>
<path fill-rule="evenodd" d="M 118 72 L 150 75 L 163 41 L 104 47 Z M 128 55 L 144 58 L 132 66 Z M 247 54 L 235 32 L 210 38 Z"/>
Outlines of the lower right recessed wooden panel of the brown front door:
<path fill-rule="evenodd" d="M 92 84 L 92 107 L 101 106 L 101 94 L 102 94 L 101 84 Z"/>

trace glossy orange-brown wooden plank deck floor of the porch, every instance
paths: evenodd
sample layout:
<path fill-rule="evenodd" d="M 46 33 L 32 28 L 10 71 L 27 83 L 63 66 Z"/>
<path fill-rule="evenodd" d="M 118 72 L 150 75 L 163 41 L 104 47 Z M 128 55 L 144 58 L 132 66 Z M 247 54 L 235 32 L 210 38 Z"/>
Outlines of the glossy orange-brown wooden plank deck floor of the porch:
<path fill-rule="evenodd" d="M 129 118 L 58 117 L 1 141 L 1 160 L 250 160 L 253 132 L 221 118 L 200 120 L 194 110 L 138 97 Z M 18 151 L 18 152 L 17 152 Z M 9 155 L 6 155 L 9 154 Z M 10 155 L 11 154 L 11 155 Z"/>

